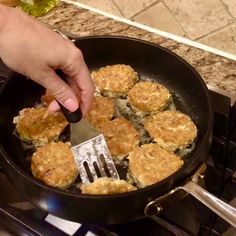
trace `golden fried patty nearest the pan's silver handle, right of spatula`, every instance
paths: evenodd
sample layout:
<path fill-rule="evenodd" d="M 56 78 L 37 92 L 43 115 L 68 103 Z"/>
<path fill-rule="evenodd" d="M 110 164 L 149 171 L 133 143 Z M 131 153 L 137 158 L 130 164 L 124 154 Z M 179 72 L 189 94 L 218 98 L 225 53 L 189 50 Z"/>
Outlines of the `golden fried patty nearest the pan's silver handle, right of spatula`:
<path fill-rule="evenodd" d="M 139 187 L 165 179 L 184 163 L 177 155 L 156 143 L 144 144 L 135 148 L 128 159 L 130 174 Z"/>

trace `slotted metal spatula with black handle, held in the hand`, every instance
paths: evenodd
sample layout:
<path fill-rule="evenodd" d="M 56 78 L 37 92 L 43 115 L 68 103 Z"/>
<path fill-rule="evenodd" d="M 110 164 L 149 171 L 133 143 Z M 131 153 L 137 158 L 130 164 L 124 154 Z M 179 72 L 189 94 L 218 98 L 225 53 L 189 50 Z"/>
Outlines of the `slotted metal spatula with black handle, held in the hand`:
<path fill-rule="evenodd" d="M 56 72 L 63 81 L 67 82 L 62 71 L 57 70 Z M 98 177 L 105 176 L 119 179 L 103 134 L 88 121 L 82 119 L 80 108 L 75 112 L 70 112 L 61 104 L 60 107 L 70 123 L 72 152 L 82 182 L 91 183 Z"/>

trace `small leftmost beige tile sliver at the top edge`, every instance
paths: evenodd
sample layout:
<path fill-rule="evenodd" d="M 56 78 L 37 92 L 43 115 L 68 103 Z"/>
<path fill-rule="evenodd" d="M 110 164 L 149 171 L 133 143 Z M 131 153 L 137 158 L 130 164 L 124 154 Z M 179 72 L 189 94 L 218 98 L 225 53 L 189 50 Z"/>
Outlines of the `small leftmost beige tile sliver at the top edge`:
<path fill-rule="evenodd" d="M 97 1 L 97 0 L 75 0 L 76 2 L 83 3 L 87 6 L 94 7 L 96 9 L 111 13 L 116 16 L 122 16 L 119 9 L 116 7 L 116 5 L 111 0 L 103 0 L 103 1 Z"/>

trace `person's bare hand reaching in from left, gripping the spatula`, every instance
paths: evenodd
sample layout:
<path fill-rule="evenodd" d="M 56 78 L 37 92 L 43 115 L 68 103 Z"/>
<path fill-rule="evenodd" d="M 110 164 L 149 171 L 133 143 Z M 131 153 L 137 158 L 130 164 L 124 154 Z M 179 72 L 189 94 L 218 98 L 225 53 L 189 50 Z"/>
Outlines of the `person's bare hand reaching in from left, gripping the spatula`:
<path fill-rule="evenodd" d="M 0 57 L 14 71 L 47 88 L 64 107 L 85 114 L 94 85 L 81 51 L 23 12 L 0 5 Z M 68 84 L 55 73 L 62 70 Z M 77 99 L 79 94 L 79 101 Z M 50 111 L 59 109 L 53 101 Z"/>

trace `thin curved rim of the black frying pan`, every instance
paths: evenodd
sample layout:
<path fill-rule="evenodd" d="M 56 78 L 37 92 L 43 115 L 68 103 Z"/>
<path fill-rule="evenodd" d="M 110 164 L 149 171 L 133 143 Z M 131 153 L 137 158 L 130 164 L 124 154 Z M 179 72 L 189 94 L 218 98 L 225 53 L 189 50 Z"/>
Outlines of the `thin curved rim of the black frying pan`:
<path fill-rule="evenodd" d="M 56 189 L 50 186 L 47 186 L 46 184 L 44 184 L 43 182 L 40 182 L 39 180 L 35 179 L 33 176 L 30 176 L 30 174 L 28 174 L 27 172 L 25 172 L 23 169 L 19 168 L 16 163 L 12 160 L 12 158 L 9 157 L 9 155 L 7 154 L 7 152 L 5 151 L 4 147 L 2 146 L 2 144 L 0 143 L 0 154 L 2 154 L 3 158 L 8 162 L 8 164 L 14 168 L 14 170 L 20 174 L 22 177 L 24 177 L 27 181 L 33 182 L 35 185 L 46 189 L 47 191 L 51 191 L 51 192 L 55 192 L 57 194 L 63 194 L 65 196 L 68 197 L 74 197 L 74 198 L 85 198 L 85 199 L 89 199 L 89 200 L 99 200 L 99 199 L 112 199 L 112 198 L 117 198 L 117 197 L 121 197 L 121 198 L 126 198 L 129 196 L 134 196 L 136 194 L 142 194 L 142 193 L 146 193 L 148 191 L 151 190 L 155 190 L 158 187 L 164 186 L 166 183 L 168 183 L 170 181 L 171 178 L 175 178 L 178 179 L 178 177 L 180 177 L 181 172 L 183 171 L 183 169 L 188 168 L 189 166 L 191 166 L 198 158 L 197 156 L 200 155 L 200 150 L 203 148 L 203 146 L 205 145 L 205 143 L 208 141 L 211 133 L 212 133 L 212 127 L 213 127 L 213 110 L 212 110 L 212 106 L 210 103 L 210 98 L 209 98 L 209 93 L 208 93 L 208 89 L 207 86 L 204 82 L 204 80 L 202 79 L 202 77 L 200 76 L 200 74 L 196 71 L 196 69 L 190 64 L 188 63 L 185 59 L 183 59 L 182 57 L 180 57 L 179 55 L 177 55 L 176 53 L 172 52 L 171 50 L 164 48 L 156 43 L 152 43 L 146 40 L 142 40 L 139 38 L 135 38 L 135 37 L 127 37 L 127 36 L 116 36 L 116 35 L 99 35 L 99 36 L 84 36 L 84 37 L 78 37 L 75 39 L 75 43 L 77 43 L 80 40 L 90 40 L 90 39 L 122 39 L 122 40 L 129 40 L 129 41 L 136 41 L 139 43 L 144 43 L 146 45 L 150 45 L 153 47 L 157 47 L 160 50 L 164 51 L 167 54 L 171 54 L 172 56 L 176 57 L 179 61 L 181 61 L 186 67 L 188 67 L 191 72 L 193 74 L 196 75 L 196 77 L 199 79 L 199 82 L 201 83 L 202 89 L 204 90 L 205 96 L 207 98 L 206 104 L 208 107 L 208 120 L 207 120 L 207 130 L 203 136 L 203 138 L 199 141 L 198 144 L 198 148 L 195 150 L 195 152 L 193 153 L 193 155 L 191 156 L 190 160 L 188 162 L 185 162 L 184 165 L 177 170 L 176 172 L 174 172 L 173 174 L 171 174 L 170 176 L 168 176 L 167 178 L 152 184 L 150 186 L 147 186 L 145 188 L 140 188 L 131 192 L 125 192 L 125 193 L 117 193 L 117 194 L 101 194 L 101 195 L 90 195 L 90 194 L 82 194 L 82 193 L 73 193 L 73 192 L 67 192 L 66 190 L 60 190 L 60 189 Z M 10 79 L 9 79 L 10 81 Z M 7 82 L 6 82 L 7 83 Z M 1 90 L 1 92 L 3 91 L 3 89 Z M 186 176 L 185 179 L 187 179 L 189 176 Z"/>

